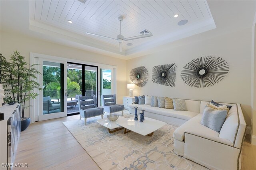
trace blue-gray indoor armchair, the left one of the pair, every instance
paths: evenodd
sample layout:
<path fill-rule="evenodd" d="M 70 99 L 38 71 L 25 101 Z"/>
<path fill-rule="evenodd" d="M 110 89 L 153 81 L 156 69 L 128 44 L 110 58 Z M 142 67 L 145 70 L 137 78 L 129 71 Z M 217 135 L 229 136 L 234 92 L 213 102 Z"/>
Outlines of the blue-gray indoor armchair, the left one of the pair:
<path fill-rule="evenodd" d="M 103 119 L 103 108 L 96 107 L 96 97 L 95 96 L 79 96 L 78 106 L 80 113 L 80 120 L 84 118 L 84 125 L 86 125 L 86 119 L 89 117 L 95 117 L 101 115 Z"/>

